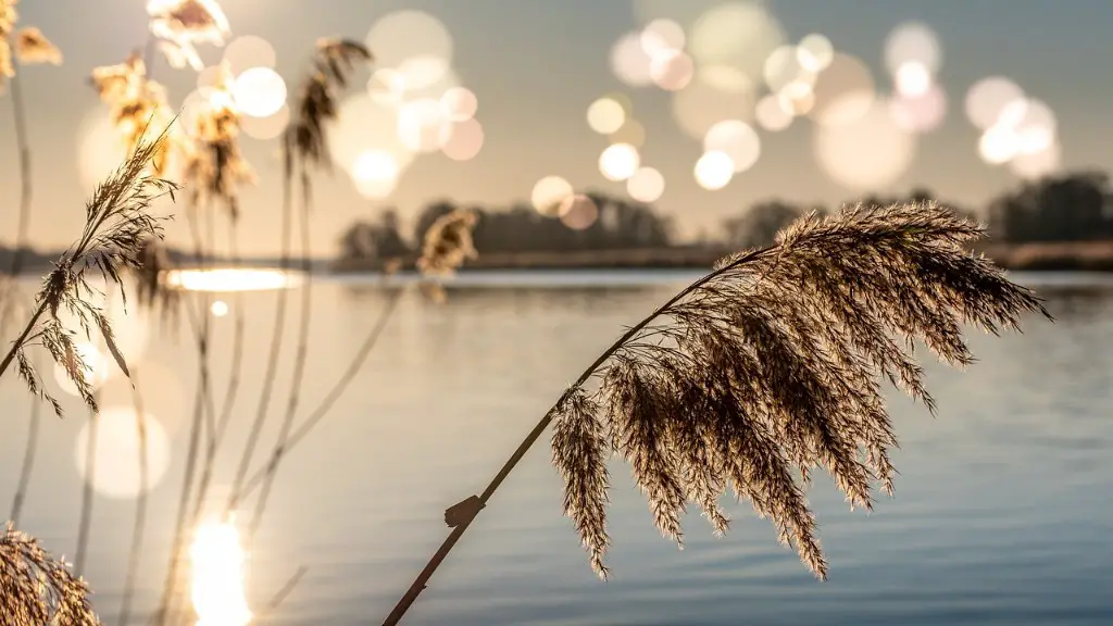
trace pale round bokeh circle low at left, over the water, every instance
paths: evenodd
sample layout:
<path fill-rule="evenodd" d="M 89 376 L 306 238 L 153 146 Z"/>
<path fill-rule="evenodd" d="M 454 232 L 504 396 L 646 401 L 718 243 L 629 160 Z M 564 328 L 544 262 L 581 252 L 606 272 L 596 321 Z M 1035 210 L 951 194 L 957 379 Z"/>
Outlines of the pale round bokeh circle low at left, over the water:
<path fill-rule="evenodd" d="M 152 415 L 144 420 L 146 446 L 140 446 L 136 412 L 106 408 L 93 419 L 83 420 L 75 446 L 73 460 L 81 479 L 101 496 L 130 499 L 142 493 L 139 452 L 147 453 L 147 491 L 154 490 L 170 469 L 170 442 L 166 429 Z M 96 429 L 96 432 L 93 432 Z M 93 439 L 92 476 L 87 476 L 87 454 Z"/>

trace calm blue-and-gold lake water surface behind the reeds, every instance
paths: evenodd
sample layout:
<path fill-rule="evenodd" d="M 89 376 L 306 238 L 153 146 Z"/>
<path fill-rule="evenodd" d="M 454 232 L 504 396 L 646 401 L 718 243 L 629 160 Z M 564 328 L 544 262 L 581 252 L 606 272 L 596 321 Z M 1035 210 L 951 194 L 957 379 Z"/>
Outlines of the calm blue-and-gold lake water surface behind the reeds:
<path fill-rule="evenodd" d="M 444 508 L 481 491 L 622 325 L 690 277 L 465 276 L 446 306 L 411 290 L 357 383 L 283 466 L 249 561 L 253 607 L 305 565 L 308 575 L 270 622 L 378 624 L 446 536 Z M 1017 280 L 1043 292 L 1058 322 L 1033 317 L 1024 334 L 973 335 L 981 362 L 966 372 L 928 363 L 939 401 L 934 420 L 892 394 L 903 443 L 896 498 L 869 516 L 851 513 L 829 483 L 817 483 L 811 500 L 833 564 L 829 581 L 812 579 L 776 544 L 768 522 L 739 505 L 725 539 L 690 515 L 687 546 L 678 551 L 659 538 L 629 472 L 617 467 L 614 578 L 600 583 L 561 515 L 546 434 L 437 571 L 407 623 L 1113 624 L 1113 280 Z M 244 296 L 247 368 L 230 431 L 234 450 L 258 402 L 274 301 L 274 293 Z M 383 303 L 372 281 L 315 286 L 306 404 L 327 392 Z M 217 344 L 227 345 L 232 316 L 216 326 Z M 215 356 L 220 381 L 228 359 L 226 351 Z M 188 332 L 177 341 L 152 335 L 136 368 L 148 410 L 170 439 L 168 471 L 151 493 L 138 599 L 138 609 L 149 612 L 162 584 L 191 410 Z M 289 375 L 286 360 L 280 389 Z M 129 405 L 126 389 L 109 382 L 105 404 Z M 52 551 L 72 555 L 82 485 L 77 442 L 86 418 L 67 398 L 67 420 L 43 420 L 21 526 Z M 0 385 L 0 401 L 7 408 L 0 507 L 7 507 L 30 403 L 11 381 Z M 225 486 L 235 469 L 232 451 L 218 468 Z M 117 620 L 132 510 L 129 499 L 95 502 L 86 575 L 107 624 Z"/>

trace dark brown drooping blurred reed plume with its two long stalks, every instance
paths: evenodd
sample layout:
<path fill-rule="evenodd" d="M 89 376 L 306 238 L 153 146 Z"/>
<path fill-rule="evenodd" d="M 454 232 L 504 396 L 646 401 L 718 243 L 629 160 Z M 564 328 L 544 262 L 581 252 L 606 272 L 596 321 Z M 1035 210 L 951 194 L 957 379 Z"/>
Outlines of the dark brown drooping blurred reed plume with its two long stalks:
<path fill-rule="evenodd" d="M 324 38 L 317 41 L 316 50 L 312 59 L 312 67 L 299 91 L 298 100 L 294 107 L 296 117 L 287 127 L 283 135 L 283 241 L 282 258 L 283 268 L 289 263 L 289 232 L 293 222 L 293 187 L 295 172 L 302 186 L 302 211 L 301 216 L 301 247 L 302 247 L 302 306 L 301 321 L 297 331 L 297 346 L 294 355 L 294 371 L 290 380 L 290 389 L 286 399 L 285 414 L 278 429 L 278 438 L 275 449 L 286 446 L 290 429 L 294 426 L 294 418 L 301 402 L 301 389 L 305 374 L 305 364 L 308 359 L 309 327 L 313 303 L 313 261 L 311 250 L 309 212 L 313 205 L 313 169 L 331 169 L 328 158 L 328 137 L 326 127 L 329 121 L 336 118 L 336 92 L 344 89 L 349 81 L 351 74 L 356 69 L 356 63 L 371 61 L 372 55 L 362 43 L 339 38 Z M 265 379 L 265 393 L 269 395 L 274 376 L 277 373 L 277 359 L 282 342 L 282 322 L 285 320 L 286 295 L 279 294 L 280 309 L 276 312 L 275 334 L 272 338 L 270 360 L 267 365 L 267 378 Z M 244 457 L 236 475 L 236 482 L 233 491 L 237 491 L 246 478 L 246 471 L 250 464 L 255 452 L 258 436 L 266 419 L 266 407 L 268 399 L 260 401 L 259 412 L 253 424 L 248 448 L 245 449 Z M 248 526 L 247 541 L 250 542 L 262 521 L 266 509 L 267 499 L 270 495 L 274 471 L 268 476 L 263 485 L 263 491 L 256 500 L 255 511 Z M 234 498 L 236 498 L 234 493 Z"/>

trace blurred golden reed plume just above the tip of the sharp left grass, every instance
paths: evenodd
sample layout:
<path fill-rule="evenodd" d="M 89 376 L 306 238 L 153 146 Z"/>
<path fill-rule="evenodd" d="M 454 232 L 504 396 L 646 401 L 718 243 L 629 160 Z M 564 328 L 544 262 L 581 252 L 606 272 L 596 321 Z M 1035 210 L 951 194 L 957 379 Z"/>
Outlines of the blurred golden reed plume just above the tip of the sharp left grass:
<path fill-rule="evenodd" d="M 109 106 L 112 126 L 128 154 L 136 149 L 148 126 L 167 129 L 150 166 L 155 176 L 168 176 L 174 157 L 187 154 L 188 145 L 178 125 L 171 124 L 174 114 L 167 104 L 166 87 L 147 78 L 147 66 L 138 52 L 122 63 L 93 68 L 90 82 Z"/>

